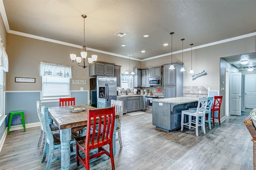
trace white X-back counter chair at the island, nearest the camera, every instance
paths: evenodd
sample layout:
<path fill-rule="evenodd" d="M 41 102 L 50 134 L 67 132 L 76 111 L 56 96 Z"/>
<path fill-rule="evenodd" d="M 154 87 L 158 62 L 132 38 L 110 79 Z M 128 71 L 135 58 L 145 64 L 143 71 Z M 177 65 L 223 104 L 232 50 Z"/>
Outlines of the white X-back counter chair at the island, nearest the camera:
<path fill-rule="evenodd" d="M 183 130 L 183 126 L 188 126 L 189 129 L 191 127 L 196 128 L 196 136 L 198 136 L 198 126 L 201 126 L 204 134 L 205 134 L 205 111 L 207 107 L 207 101 L 208 98 L 199 98 L 198 99 L 198 105 L 196 110 L 184 110 L 181 111 L 181 131 Z M 188 123 L 184 123 L 184 115 L 188 115 Z M 192 116 L 196 117 L 196 122 L 192 121 Z M 202 117 L 199 122 L 199 117 Z M 195 124 L 195 126 L 192 126 L 191 124 Z"/>

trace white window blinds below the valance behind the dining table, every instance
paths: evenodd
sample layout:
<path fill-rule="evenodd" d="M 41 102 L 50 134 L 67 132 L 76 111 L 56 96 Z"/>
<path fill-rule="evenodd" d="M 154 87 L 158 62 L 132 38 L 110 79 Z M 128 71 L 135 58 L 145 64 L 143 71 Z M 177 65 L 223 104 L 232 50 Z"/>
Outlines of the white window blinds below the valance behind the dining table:
<path fill-rule="evenodd" d="M 69 97 L 70 79 L 42 76 L 42 99 Z"/>

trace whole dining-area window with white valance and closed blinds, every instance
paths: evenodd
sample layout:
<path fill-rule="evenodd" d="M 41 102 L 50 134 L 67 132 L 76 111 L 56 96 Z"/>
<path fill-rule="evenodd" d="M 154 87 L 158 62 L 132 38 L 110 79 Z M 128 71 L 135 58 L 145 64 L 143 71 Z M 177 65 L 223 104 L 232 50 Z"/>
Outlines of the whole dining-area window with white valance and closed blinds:
<path fill-rule="evenodd" d="M 71 67 L 40 63 L 42 76 L 42 99 L 70 97 Z"/>

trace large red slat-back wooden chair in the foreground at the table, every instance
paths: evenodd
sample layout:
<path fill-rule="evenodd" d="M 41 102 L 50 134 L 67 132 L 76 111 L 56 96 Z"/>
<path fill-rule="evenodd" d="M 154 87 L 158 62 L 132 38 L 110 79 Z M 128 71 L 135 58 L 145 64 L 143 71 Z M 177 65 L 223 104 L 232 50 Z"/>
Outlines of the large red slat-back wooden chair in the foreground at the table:
<path fill-rule="evenodd" d="M 115 122 L 115 107 L 87 111 L 87 128 L 86 136 L 75 138 L 76 140 L 76 165 L 79 161 L 84 165 L 86 170 L 90 170 L 90 159 L 106 154 L 110 157 L 112 170 L 115 169 L 113 154 L 113 132 Z M 98 119 L 98 120 L 97 120 Z M 101 124 L 102 126 L 98 126 Z M 96 130 L 98 127 L 98 130 Z M 109 152 L 102 146 L 109 144 Z M 98 148 L 96 154 L 89 155 L 89 151 Z M 82 150 L 85 158 L 79 153 Z"/>

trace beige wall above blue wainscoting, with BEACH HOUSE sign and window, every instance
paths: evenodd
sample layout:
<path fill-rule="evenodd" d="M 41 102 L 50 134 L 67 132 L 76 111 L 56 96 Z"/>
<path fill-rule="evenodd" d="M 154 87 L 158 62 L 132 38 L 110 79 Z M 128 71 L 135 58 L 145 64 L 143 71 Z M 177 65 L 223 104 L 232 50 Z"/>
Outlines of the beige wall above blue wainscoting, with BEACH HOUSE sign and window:
<path fill-rule="evenodd" d="M 45 42 L 14 34 L 7 34 L 7 54 L 9 58 L 9 72 L 7 73 L 7 91 L 42 90 L 42 77 L 40 76 L 40 61 L 72 66 L 73 79 L 85 79 L 87 85 L 72 85 L 70 90 L 90 89 L 88 68 L 83 69 L 72 64 L 69 54 L 80 54 L 82 49 Z M 88 56 L 98 55 L 98 61 L 106 61 L 122 65 L 121 73 L 129 69 L 129 59 L 112 55 L 88 51 Z M 131 68 L 140 67 L 140 61 L 131 60 Z M 15 77 L 36 78 L 36 83 L 15 83 Z"/>

